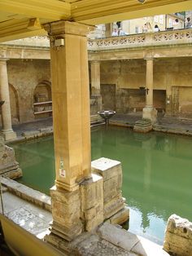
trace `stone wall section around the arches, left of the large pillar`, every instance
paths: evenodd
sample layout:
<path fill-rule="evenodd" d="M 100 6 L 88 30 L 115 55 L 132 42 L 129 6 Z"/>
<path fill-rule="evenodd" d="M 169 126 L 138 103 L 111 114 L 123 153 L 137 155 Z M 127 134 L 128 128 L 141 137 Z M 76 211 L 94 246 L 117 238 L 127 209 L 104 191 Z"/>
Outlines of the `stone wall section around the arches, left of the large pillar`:
<path fill-rule="evenodd" d="M 7 72 L 12 123 L 33 121 L 34 90 L 41 82 L 50 82 L 50 60 L 8 60 Z"/>

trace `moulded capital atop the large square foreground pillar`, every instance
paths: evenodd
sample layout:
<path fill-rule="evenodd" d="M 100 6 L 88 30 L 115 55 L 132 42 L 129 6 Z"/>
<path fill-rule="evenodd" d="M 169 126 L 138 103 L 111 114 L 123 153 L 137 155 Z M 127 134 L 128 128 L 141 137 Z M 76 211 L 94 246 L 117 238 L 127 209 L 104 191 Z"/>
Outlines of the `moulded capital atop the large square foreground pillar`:
<path fill-rule="evenodd" d="M 94 26 L 81 24 L 78 22 L 59 20 L 56 22 L 44 24 L 44 29 L 46 29 L 48 34 L 53 37 L 61 36 L 64 34 L 85 37 L 90 31 L 94 30 Z"/>

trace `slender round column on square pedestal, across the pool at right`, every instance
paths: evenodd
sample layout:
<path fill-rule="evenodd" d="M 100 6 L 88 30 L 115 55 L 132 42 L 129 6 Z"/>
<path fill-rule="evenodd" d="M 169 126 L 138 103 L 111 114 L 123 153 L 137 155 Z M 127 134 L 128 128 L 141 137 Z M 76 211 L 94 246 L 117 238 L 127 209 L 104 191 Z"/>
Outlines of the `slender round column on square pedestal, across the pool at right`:
<path fill-rule="evenodd" d="M 142 118 L 155 123 L 157 111 L 153 107 L 153 59 L 146 59 L 146 107 L 142 109 Z"/>

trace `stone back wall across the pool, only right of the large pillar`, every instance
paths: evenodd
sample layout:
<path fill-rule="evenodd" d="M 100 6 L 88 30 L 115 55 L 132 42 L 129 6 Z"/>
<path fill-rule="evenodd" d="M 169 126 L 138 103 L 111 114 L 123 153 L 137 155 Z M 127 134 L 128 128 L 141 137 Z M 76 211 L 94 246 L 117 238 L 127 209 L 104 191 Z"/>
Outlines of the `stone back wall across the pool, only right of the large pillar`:
<path fill-rule="evenodd" d="M 159 111 L 192 114 L 191 58 L 154 60 L 154 105 Z M 109 60 L 101 62 L 101 89 L 116 86 L 116 111 L 127 113 L 145 106 L 146 60 Z M 177 89 L 179 88 L 179 89 Z M 102 90 L 103 100 L 111 95 Z"/>

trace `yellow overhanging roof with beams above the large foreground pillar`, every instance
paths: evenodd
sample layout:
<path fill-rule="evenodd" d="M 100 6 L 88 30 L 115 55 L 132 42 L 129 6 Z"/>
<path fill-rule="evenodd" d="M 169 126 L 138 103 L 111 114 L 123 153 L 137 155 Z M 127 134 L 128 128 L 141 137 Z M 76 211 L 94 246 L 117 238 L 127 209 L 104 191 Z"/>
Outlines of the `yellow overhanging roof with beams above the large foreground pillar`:
<path fill-rule="evenodd" d="M 190 10 L 192 0 L 3 0 L 0 42 L 45 34 L 41 25 L 56 20 L 104 24 Z"/>

